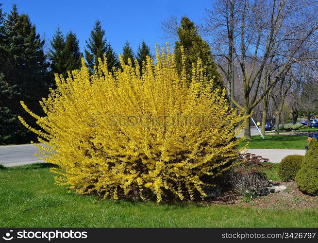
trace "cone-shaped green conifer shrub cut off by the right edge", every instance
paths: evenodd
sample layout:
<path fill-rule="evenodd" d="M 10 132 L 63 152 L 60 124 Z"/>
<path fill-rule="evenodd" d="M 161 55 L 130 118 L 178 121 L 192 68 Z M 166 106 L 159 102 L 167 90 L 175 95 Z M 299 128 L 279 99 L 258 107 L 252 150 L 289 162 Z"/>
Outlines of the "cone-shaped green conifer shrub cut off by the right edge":
<path fill-rule="evenodd" d="M 309 142 L 301 169 L 295 177 L 299 189 L 309 194 L 318 194 L 318 141 L 313 138 Z"/>

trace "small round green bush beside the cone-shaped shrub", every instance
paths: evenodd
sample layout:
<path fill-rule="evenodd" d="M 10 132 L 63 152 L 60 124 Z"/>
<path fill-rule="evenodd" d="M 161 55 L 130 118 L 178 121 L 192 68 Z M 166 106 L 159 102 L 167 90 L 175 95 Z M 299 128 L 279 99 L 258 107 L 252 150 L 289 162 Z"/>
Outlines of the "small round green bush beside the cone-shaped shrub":
<path fill-rule="evenodd" d="M 278 175 L 282 181 L 293 181 L 301 169 L 303 155 L 288 155 L 278 164 Z"/>

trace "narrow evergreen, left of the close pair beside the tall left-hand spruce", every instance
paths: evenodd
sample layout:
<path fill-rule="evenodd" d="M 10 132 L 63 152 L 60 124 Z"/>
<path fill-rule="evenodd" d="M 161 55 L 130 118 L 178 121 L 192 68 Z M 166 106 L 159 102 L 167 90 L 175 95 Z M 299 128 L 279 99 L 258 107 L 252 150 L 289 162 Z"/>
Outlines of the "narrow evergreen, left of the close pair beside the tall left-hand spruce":
<path fill-rule="evenodd" d="M 58 26 L 52 40 L 51 47 L 48 53 L 50 59 L 50 68 L 54 73 L 65 74 L 65 60 L 63 58 L 63 50 L 65 48 L 65 38 Z"/>

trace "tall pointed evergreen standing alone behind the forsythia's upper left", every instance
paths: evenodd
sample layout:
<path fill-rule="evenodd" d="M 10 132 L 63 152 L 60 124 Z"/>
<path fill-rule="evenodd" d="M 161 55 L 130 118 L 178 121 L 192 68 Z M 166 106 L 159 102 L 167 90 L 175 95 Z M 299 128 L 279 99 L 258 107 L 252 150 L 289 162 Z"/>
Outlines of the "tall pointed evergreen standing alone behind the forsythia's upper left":
<path fill-rule="evenodd" d="M 107 43 L 104 35 L 105 31 L 101 28 L 100 21 L 97 20 L 88 41 L 86 40 L 86 48 L 84 50 L 86 63 L 90 70 L 93 70 L 94 66 L 98 65 L 98 58 L 103 58 L 103 54 L 106 54 L 109 70 L 118 66 L 117 55 L 110 43 Z"/>

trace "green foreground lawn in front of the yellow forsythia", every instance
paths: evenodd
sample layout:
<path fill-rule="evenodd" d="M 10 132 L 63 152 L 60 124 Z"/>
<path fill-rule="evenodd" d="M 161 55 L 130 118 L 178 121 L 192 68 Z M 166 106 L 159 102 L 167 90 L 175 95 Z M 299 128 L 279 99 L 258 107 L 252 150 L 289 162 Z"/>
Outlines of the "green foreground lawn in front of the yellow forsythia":
<path fill-rule="evenodd" d="M 97 201 L 54 184 L 49 166 L 0 170 L 0 227 L 318 227 L 317 208 Z"/>

